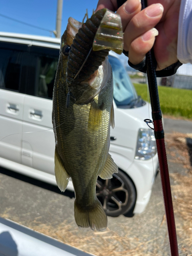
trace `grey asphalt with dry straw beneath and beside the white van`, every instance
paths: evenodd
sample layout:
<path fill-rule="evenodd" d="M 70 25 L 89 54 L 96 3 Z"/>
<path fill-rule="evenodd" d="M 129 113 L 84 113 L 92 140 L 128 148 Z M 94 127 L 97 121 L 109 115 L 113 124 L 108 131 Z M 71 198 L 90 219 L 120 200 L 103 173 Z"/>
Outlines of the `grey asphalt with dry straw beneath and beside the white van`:
<path fill-rule="evenodd" d="M 191 128 L 192 122 L 164 119 L 165 133 L 173 131 L 189 133 L 192 131 Z M 182 173 L 183 166 L 173 161 L 169 162 L 170 156 L 167 157 L 169 172 Z M 173 184 L 172 180 L 171 184 Z M 99 252 L 103 246 L 105 251 L 109 250 L 109 253 L 105 255 L 111 255 L 109 246 L 112 244 L 115 245 L 114 248 L 117 251 L 121 251 L 122 248 L 124 251 L 139 248 L 142 255 L 145 255 L 144 253 L 170 255 L 159 175 L 145 211 L 133 217 L 108 217 L 108 234 L 105 235 L 104 240 L 101 237 L 98 238 L 98 232 L 79 229 L 76 226 L 74 194 L 69 191 L 61 193 L 56 186 L 0 168 L 0 202 L 1 217 L 45 232 L 54 238 L 90 252 L 94 252 L 90 248 L 97 246 L 98 248 L 95 249 L 98 249 L 97 255 L 103 255 Z M 62 236 L 61 227 L 65 230 Z M 178 237 L 178 241 L 181 250 L 182 237 Z"/>

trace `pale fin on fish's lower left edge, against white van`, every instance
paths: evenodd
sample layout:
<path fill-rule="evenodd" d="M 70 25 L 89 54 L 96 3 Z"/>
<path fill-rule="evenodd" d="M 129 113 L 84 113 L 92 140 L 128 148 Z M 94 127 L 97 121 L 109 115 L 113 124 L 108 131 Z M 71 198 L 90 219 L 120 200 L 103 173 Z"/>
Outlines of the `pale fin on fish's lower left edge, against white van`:
<path fill-rule="evenodd" d="M 57 186 L 60 188 L 61 191 L 64 192 L 69 183 L 70 176 L 68 175 L 68 173 L 66 172 L 66 169 L 62 164 L 62 161 L 60 159 L 60 156 L 56 148 L 55 148 L 55 178 L 56 178 Z"/>

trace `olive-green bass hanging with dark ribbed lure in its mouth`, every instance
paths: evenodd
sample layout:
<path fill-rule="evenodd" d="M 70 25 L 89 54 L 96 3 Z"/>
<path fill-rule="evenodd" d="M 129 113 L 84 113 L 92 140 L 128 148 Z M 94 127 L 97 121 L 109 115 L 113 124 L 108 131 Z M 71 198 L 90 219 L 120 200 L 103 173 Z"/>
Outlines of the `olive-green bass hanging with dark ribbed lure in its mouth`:
<path fill-rule="evenodd" d="M 100 45 L 93 51 L 93 42 L 97 48 L 105 41 L 94 40 L 104 16 L 109 19 L 107 9 L 99 10 L 83 24 L 69 18 L 61 37 L 53 89 L 56 182 L 65 191 L 72 179 L 76 224 L 93 230 L 103 230 L 108 223 L 96 197 L 97 178 L 110 179 L 118 172 L 109 154 L 110 125 L 115 124 L 113 74 L 107 56 L 113 47 Z"/>

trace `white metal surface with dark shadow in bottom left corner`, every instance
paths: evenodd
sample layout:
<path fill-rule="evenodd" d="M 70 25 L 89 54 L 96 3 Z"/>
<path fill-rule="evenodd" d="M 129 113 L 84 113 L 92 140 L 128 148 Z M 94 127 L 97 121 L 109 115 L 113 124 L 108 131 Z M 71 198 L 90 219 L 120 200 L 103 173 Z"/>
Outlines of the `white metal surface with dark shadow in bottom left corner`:
<path fill-rule="evenodd" d="M 93 255 L 0 218 L 0 256 Z"/>

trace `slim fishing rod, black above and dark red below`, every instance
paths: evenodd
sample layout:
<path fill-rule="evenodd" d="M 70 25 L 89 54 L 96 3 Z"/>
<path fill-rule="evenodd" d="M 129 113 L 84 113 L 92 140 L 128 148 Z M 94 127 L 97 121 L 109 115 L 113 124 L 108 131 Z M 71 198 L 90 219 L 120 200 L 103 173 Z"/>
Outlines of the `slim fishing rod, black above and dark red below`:
<path fill-rule="evenodd" d="M 126 1 L 124 0 L 117 0 L 118 8 L 125 2 Z M 146 2 L 147 2 L 146 0 L 141 0 L 142 9 L 147 7 Z M 164 207 L 165 207 L 165 214 L 166 214 L 166 221 L 167 221 L 167 228 L 168 228 L 170 253 L 172 256 L 179 256 L 173 201 L 172 201 L 172 192 L 170 189 L 167 156 L 166 156 L 166 150 L 165 150 L 162 114 L 160 109 L 159 93 L 158 93 L 158 86 L 157 86 L 157 79 L 156 79 L 157 62 L 154 56 L 153 48 L 152 50 L 147 52 L 146 57 L 142 62 L 143 63 L 139 63 L 139 65 L 142 66 L 142 68 L 143 66 L 146 67 L 148 89 L 150 91 L 150 99 L 151 99 L 151 106 L 152 106 L 152 119 L 153 119 L 153 121 L 150 119 L 145 119 L 144 121 L 151 129 L 154 130 L 154 134 L 156 138 L 157 154 L 159 159 L 159 168 L 160 168 L 160 176 L 161 176 L 161 185 L 162 185 L 162 191 L 163 191 L 163 200 L 164 200 Z M 129 62 L 129 64 L 131 63 Z M 180 64 L 181 64 L 180 62 L 177 62 L 175 67 L 177 68 L 178 66 L 181 66 Z M 136 65 L 136 66 L 139 66 L 139 65 Z M 130 66 L 133 67 L 134 65 L 130 65 Z M 175 68 L 174 68 L 174 72 L 176 72 Z M 148 123 L 153 123 L 154 128 L 152 128 Z"/>

